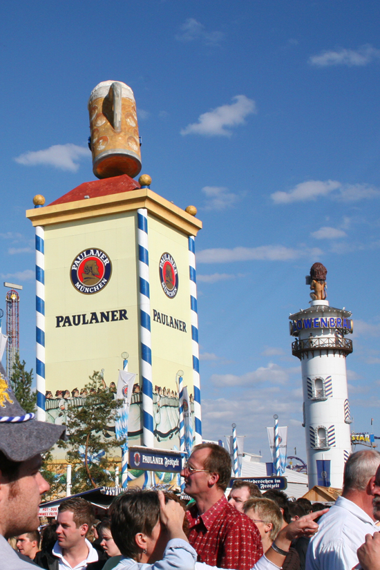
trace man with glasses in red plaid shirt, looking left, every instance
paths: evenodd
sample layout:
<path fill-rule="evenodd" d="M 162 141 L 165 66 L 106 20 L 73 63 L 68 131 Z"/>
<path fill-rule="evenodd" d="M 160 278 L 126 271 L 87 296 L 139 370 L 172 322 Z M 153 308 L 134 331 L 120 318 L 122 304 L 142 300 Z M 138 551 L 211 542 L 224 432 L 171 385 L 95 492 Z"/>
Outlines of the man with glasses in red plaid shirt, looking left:
<path fill-rule="evenodd" d="M 263 547 L 256 524 L 225 497 L 231 479 L 229 453 L 216 444 L 198 445 L 181 475 L 184 492 L 196 500 L 186 515 L 189 542 L 198 553 L 198 561 L 250 570 L 263 555 Z"/>

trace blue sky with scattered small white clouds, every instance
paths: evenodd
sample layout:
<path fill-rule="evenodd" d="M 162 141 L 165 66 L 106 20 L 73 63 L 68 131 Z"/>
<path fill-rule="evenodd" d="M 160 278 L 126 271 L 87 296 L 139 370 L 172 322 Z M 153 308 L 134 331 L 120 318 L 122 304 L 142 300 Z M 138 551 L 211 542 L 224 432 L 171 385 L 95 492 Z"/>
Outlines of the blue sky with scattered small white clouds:
<path fill-rule="evenodd" d="M 35 368 L 32 198 L 93 180 L 88 97 L 133 89 L 142 172 L 196 205 L 204 436 L 269 458 L 289 426 L 305 459 L 301 368 L 288 315 L 328 269 L 352 311 L 352 428 L 380 435 L 378 1 L 7 3 L 1 19 L 1 280 L 21 283 L 21 358 Z M 6 289 L 3 289 L 5 296 Z M 5 301 L 0 303 L 5 308 Z"/>

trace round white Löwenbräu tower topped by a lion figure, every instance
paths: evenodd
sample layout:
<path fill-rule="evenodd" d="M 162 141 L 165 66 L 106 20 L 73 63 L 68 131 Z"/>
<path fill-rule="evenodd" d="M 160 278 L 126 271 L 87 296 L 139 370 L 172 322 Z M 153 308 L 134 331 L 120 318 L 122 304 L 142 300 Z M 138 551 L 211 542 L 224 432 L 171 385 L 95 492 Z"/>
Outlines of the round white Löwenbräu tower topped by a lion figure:
<path fill-rule="evenodd" d="M 292 354 L 301 360 L 303 427 L 309 486 L 342 487 L 344 464 L 351 453 L 350 404 L 345 357 L 352 352 L 351 313 L 326 300 L 327 269 L 314 263 L 306 284 L 310 307 L 289 316 L 296 336 Z"/>

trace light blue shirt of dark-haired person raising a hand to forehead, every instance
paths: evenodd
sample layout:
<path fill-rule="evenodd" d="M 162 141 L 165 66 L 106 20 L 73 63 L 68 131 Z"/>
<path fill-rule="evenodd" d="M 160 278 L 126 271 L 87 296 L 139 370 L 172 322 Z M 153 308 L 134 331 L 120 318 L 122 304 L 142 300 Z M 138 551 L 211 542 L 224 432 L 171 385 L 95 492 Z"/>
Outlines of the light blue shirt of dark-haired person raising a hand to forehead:
<path fill-rule="evenodd" d="M 143 564 L 122 556 L 115 570 L 194 570 L 196 559 L 197 553 L 189 542 L 182 538 L 173 538 L 167 543 L 162 560 L 154 564 Z"/>

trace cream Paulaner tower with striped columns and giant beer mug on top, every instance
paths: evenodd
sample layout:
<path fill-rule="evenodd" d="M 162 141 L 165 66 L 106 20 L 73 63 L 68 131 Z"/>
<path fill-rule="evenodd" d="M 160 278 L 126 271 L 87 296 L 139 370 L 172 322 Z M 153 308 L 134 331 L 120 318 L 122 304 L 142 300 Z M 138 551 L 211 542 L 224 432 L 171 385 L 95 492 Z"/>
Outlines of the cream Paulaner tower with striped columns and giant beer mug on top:
<path fill-rule="evenodd" d="M 88 111 L 99 180 L 49 205 L 35 196 L 27 211 L 36 229 L 37 415 L 64 424 L 69 408 L 95 401 L 95 388 L 86 388 L 94 371 L 98 390 L 116 394 L 128 359 L 136 374 L 130 446 L 179 448 L 179 375 L 201 443 L 195 238 L 202 222 L 195 207 L 152 191 L 149 175 L 134 180 L 141 155 L 129 86 L 100 83 Z M 114 435 L 114 425 L 104 426 L 104 437 Z"/>

